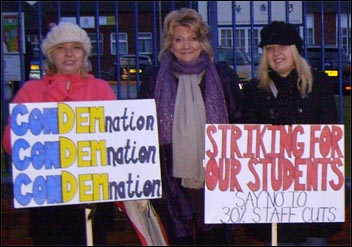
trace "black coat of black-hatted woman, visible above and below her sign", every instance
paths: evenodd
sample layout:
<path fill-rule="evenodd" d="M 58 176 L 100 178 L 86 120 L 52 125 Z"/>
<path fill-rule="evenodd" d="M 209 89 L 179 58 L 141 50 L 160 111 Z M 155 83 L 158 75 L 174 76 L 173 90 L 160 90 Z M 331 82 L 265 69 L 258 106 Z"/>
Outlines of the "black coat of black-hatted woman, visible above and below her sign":
<path fill-rule="evenodd" d="M 296 78 L 292 78 L 294 83 Z M 281 80 L 285 79 L 281 78 Z M 314 72 L 313 82 L 312 92 L 304 98 L 293 85 L 292 88 L 295 89 L 290 92 L 292 100 L 290 107 L 287 108 L 289 110 L 280 113 L 277 107 L 278 99 L 271 91 L 258 88 L 257 80 L 252 79 L 250 86 L 244 90 L 242 121 L 279 125 L 337 124 L 338 115 L 332 82 L 323 72 Z M 342 223 L 280 223 L 278 224 L 278 241 L 302 242 L 306 237 L 329 237 L 341 227 Z M 271 224 L 246 224 L 245 233 L 259 241 L 270 242 Z"/>

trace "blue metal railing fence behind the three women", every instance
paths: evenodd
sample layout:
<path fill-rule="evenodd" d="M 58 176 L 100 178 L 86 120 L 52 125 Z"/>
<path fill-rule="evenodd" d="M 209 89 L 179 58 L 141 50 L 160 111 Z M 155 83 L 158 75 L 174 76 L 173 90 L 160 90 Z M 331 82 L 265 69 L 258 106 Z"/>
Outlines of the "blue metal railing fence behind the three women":
<path fill-rule="evenodd" d="M 121 69 L 120 69 L 120 59 L 119 59 L 119 54 L 121 52 L 121 43 L 120 43 L 120 36 L 121 34 L 121 16 L 126 15 L 127 13 L 129 16 L 132 16 L 132 18 L 129 19 L 129 35 L 132 35 L 131 40 L 128 41 L 130 43 L 126 43 L 127 46 L 131 47 L 132 52 L 128 53 L 133 53 L 136 55 L 136 68 L 137 70 L 140 68 L 139 64 L 139 56 L 142 55 L 140 52 L 136 51 L 141 51 L 140 47 L 140 31 L 145 31 L 141 30 L 141 26 L 143 26 L 144 29 L 146 29 L 145 24 L 149 23 L 149 29 L 148 32 L 151 33 L 150 37 L 150 42 L 148 43 L 150 46 L 150 54 L 149 56 L 151 57 L 151 60 L 153 64 L 157 65 L 157 54 L 160 50 L 160 33 L 161 33 L 161 24 L 163 21 L 163 17 L 165 14 L 167 14 L 169 11 L 180 8 L 180 7 L 190 7 L 190 8 L 195 8 L 198 11 L 203 11 L 203 15 L 205 19 L 208 22 L 208 25 L 210 26 L 210 29 L 212 31 L 212 36 L 211 36 L 211 44 L 213 46 L 214 51 L 217 51 L 219 44 L 219 40 L 221 40 L 222 37 L 219 37 L 219 28 L 226 26 L 229 29 L 232 29 L 232 37 L 230 37 L 233 41 L 232 44 L 233 48 L 236 47 L 236 42 L 238 40 L 238 37 L 236 37 L 236 29 L 239 27 L 247 27 L 248 30 L 248 37 L 247 37 L 247 47 L 246 50 L 248 53 L 250 53 L 251 56 L 251 67 L 252 67 L 252 74 L 251 76 L 253 77 L 255 75 L 255 59 L 254 56 L 256 55 L 256 49 L 257 49 L 257 41 L 258 37 L 256 37 L 256 33 L 254 32 L 258 27 L 262 27 L 265 25 L 265 23 L 258 24 L 255 22 L 255 17 L 254 17 L 254 4 L 255 1 L 247 1 L 249 4 L 249 20 L 250 22 L 248 24 L 243 24 L 243 23 L 238 23 L 236 22 L 236 14 L 238 13 L 238 7 L 239 3 L 243 1 L 232 1 L 231 2 L 231 11 L 232 11 L 232 18 L 231 19 L 231 24 L 223 25 L 221 26 L 221 23 L 219 23 L 219 13 L 222 13 L 222 11 L 219 9 L 219 3 L 221 1 L 152 1 L 152 2 L 139 2 L 139 1 L 134 1 L 134 2 L 104 2 L 104 1 L 95 1 L 95 2 L 84 2 L 84 1 L 51 1 L 51 2 L 41 2 L 38 1 L 35 4 L 29 4 L 28 2 L 24 1 L 2 1 L 1 2 L 1 13 L 2 13 L 2 18 L 4 16 L 9 18 L 10 23 L 5 22 L 4 19 L 2 19 L 1 22 L 1 33 L 3 37 L 3 42 L 2 42 L 2 51 L 1 51 L 1 59 L 2 59 L 2 73 L 1 73 L 1 110 L 2 110 L 2 126 L 4 126 L 5 122 L 7 121 L 7 116 L 8 116 L 8 104 L 13 98 L 14 94 L 20 88 L 23 83 L 26 81 L 26 40 L 28 38 L 31 39 L 33 42 L 32 44 L 36 47 L 40 47 L 40 42 L 42 38 L 45 35 L 45 32 L 47 31 L 47 25 L 49 22 L 58 22 L 62 20 L 63 18 L 70 17 L 71 21 L 75 21 L 82 27 L 84 25 L 87 25 L 87 23 L 82 23 L 82 16 L 90 15 L 89 19 L 93 20 L 93 26 L 90 26 L 88 29 L 90 30 L 90 33 L 94 33 L 93 39 L 95 38 L 95 43 L 93 43 L 93 47 L 95 49 L 95 54 L 92 56 L 92 63 L 93 63 L 93 68 L 94 68 L 94 74 L 95 76 L 99 78 L 103 78 L 106 75 L 106 73 L 110 73 L 111 71 L 113 72 L 111 81 L 114 83 L 111 83 L 111 86 L 113 87 L 117 98 L 118 99 L 134 99 L 136 98 L 136 91 L 139 88 L 140 84 L 140 75 L 139 73 L 136 74 L 136 78 L 134 79 L 133 83 L 129 78 L 127 78 L 127 82 L 121 80 Z M 282 1 L 283 4 L 283 9 L 280 11 L 284 14 L 284 21 L 286 22 L 291 22 L 292 21 L 292 16 L 290 16 L 290 11 L 292 10 L 292 2 L 289 1 Z M 299 28 L 301 31 L 301 34 L 303 34 L 303 39 L 305 43 L 309 41 L 309 28 L 307 27 L 307 13 L 309 11 L 308 5 L 311 4 L 312 2 L 309 1 L 302 1 L 300 2 L 302 4 L 302 23 L 299 24 Z M 325 38 L 326 34 L 325 32 L 331 32 L 329 28 L 326 28 L 327 24 L 325 21 L 325 18 L 329 13 L 334 12 L 336 15 L 336 23 L 337 23 L 337 32 L 334 33 L 334 36 L 336 36 L 336 43 L 335 45 L 339 48 L 343 47 L 343 44 L 345 44 L 345 47 L 349 49 L 347 52 L 350 56 L 350 4 L 348 2 L 344 1 L 336 1 L 334 3 L 334 9 L 332 10 L 330 8 L 331 3 L 327 2 L 324 3 L 324 1 L 321 2 L 315 2 L 315 5 L 309 5 L 311 6 L 311 13 L 315 13 L 315 15 L 320 16 L 320 21 L 317 23 L 315 22 L 314 25 L 318 25 L 315 28 L 320 30 L 320 37 L 321 40 L 318 43 L 319 46 L 325 47 Z M 348 3 L 347 8 L 345 7 L 345 4 Z M 205 7 L 203 4 L 206 4 Z M 267 23 L 270 22 L 275 18 L 273 15 L 273 7 L 272 5 L 274 2 L 268 1 L 267 2 L 267 9 L 265 11 L 267 12 Z M 342 4 L 344 4 L 343 7 Z M 344 13 L 343 17 L 344 20 L 341 20 L 342 17 L 342 12 Z M 106 16 L 107 13 L 110 13 L 109 16 L 112 17 L 112 20 L 109 18 L 103 19 L 102 17 Z M 9 16 L 8 16 L 9 14 Z M 142 17 L 143 16 L 143 17 Z M 16 19 L 17 18 L 17 19 Z M 119 21 L 120 18 L 120 21 Z M 346 20 L 345 20 L 346 19 Z M 147 20 L 147 21 L 145 21 Z M 18 22 L 18 25 L 15 22 Z M 346 21 L 346 24 L 343 22 Z M 12 23 L 11 23 L 12 22 Z M 111 50 L 115 50 L 114 54 L 105 54 L 102 52 L 102 46 L 103 42 L 100 41 L 100 35 L 103 32 L 103 29 L 105 28 L 106 22 L 111 22 L 111 30 L 108 32 L 113 32 L 114 35 L 110 35 L 109 39 L 110 40 L 110 48 Z M 347 29 L 342 29 L 341 24 L 344 24 Z M 5 26 L 5 25 L 9 26 Z M 12 45 L 16 46 L 17 48 L 17 53 L 5 53 L 4 52 L 4 39 L 6 38 L 6 31 L 8 31 L 8 28 L 10 28 L 10 31 L 16 32 L 16 39 L 13 40 Z M 11 28 L 14 28 L 11 30 Z M 15 31 L 14 31 L 15 30 Z M 105 29 L 104 29 L 105 30 Z M 215 31 L 214 31 L 215 30 Z M 346 33 L 342 33 L 343 30 L 347 30 Z M 6 34 L 6 35 L 5 35 Z M 10 34 L 9 34 L 10 35 Z M 330 35 L 330 33 L 329 33 Z M 95 36 L 95 37 L 94 37 Z M 258 32 L 257 32 L 258 36 Z M 257 38 L 257 39 L 256 39 Z M 114 45 L 111 45 L 113 43 L 113 40 L 118 40 L 119 42 L 115 42 Z M 133 42 L 134 40 L 134 42 Z M 97 42 L 98 41 L 98 42 Z M 106 40 L 105 40 L 106 42 Z M 322 59 L 324 59 L 324 49 L 322 49 Z M 346 49 L 345 49 L 346 50 Z M 338 63 L 338 69 L 339 69 L 339 115 L 340 115 L 340 122 L 343 123 L 343 112 L 342 112 L 342 62 L 341 62 L 341 52 L 339 52 L 339 63 Z M 305 54 L 307 54 L 307 50 L 305 49 Z M 111 56 L 114 55 L 114 56 Z M 111 61 L 109 61 L 110 64 L 114 64 L 110 72 L 106 71 L 106 65 L 104 62 L 108 60 L 108 56 L 111 57 Z M 39 65 L 41 65 L 42 61 L 42 55 L 40 53 L 40 58 L 39 58 Z M 13 59 L 13 60 L 11 60 Z M 349 57 L 350 59 L 350 57 Z M 10 61 L 10 67 L 12 69 L 11 72 L 7 72 L 9 69 L 9 61 Z M 13 63 L 11 62 L 13 61 Z M 5 64 L 7 64 L 7 67 L 5 67 Z M 18 65 L 18 69 L 16 68 L 16 65 Z M 237 72 L 237 66 L 236 66 L 236 61 L 234 58 L 234 69 Z M 322 65 L 322 69 L 324 69 L 324 63 Z M 43 73 L 42 71 L 42 66 L 40 67 L 40 74 Z M 10 73 L 10 79 L 8 78 Z M 11 74 L 14 73 L 14 74 Z M 12 76 L 12 77 L 11 77 Z M 349 78 L 350 80 L 350 78 Z M 3 129 L 3 128 L 2 128 Z"/>

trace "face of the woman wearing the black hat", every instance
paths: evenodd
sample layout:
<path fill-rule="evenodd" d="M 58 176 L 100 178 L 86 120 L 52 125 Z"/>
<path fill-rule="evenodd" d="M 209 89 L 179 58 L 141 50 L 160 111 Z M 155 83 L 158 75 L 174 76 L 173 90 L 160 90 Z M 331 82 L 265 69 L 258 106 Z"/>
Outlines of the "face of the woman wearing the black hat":
<path fill-rule="evenodd" d="M 290 45 L 267 45 L 265 50 L 270 68 L 280 76 L 286 77 L 295 68 Z"/>

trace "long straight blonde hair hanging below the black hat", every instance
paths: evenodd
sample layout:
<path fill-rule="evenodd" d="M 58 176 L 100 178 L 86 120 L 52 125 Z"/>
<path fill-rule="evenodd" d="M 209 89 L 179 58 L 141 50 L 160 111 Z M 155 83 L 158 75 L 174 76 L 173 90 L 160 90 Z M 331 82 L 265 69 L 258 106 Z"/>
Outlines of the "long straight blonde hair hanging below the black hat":
<path fill-rule="evenodd" d="M 301 56 L 295 45 L 290 45 L 293 60 L 295 62 L 295 68 L 297 70 L 297 88 L 301 96 L 306 96 L 310 93 L 313 88 L 313 75 L 307 60 Z M 259 87 L 267 91 L 270 91 L 270 83 L 272 80 L 269 77 L 269 62 L 266 57 L 266 49 L 264 46 L 263 54 L 260 60 L 260 64 L 257 70 L 257 79 L 259 80 Z"/>

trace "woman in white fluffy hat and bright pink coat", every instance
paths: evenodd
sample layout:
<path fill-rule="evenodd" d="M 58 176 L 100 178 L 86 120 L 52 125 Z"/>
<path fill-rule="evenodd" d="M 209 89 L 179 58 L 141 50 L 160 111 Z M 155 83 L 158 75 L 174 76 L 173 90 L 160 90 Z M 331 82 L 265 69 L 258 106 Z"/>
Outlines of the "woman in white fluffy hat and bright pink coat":
<path fill-rule="evenodd" d="M 12 103 L 116 100 L 106 81 L 86 68 L 91 51 L 87 33 L 78 25 L 61 22 L 53 26 L 42 43 L 47 57 L 45 75 L 27 81 Z M 10 122 L 2 142 L 11 155 Z M 94 245 L 106 244 L 112 224 L 112 203 L 96 204 L 93 221 Z M 30 233 L 34 245 L 86 245 L 85 214 L 80 205 L 29 208 Z"/>

